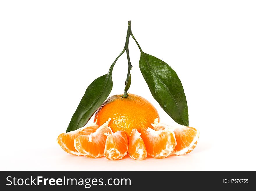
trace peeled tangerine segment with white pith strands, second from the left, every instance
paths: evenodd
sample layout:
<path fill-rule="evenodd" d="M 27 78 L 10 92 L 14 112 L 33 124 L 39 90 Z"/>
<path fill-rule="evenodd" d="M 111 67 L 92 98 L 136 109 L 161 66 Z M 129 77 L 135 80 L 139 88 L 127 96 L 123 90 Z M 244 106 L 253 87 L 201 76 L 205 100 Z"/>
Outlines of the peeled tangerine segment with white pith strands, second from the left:
<path fill-rule="evenodd" d="M 110 119 L 100 126 L 94 133 L 90 135 L 80 135 L 74 141 L 74 147 L 83 156 L 89 158 L 100 158 L 104 155 L 104 147 L 106 138 L 109 133 L 113 133 L 107 125 Z"/>

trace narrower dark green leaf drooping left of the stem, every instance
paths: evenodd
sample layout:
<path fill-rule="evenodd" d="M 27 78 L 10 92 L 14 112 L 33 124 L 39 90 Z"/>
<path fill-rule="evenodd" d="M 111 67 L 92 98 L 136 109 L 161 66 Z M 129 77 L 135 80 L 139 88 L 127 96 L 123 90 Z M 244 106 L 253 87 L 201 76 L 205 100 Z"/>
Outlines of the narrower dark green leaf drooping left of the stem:
<path fill-rule="evenodd" d="M 114 65 L 114 63 L 111 65 L 108 74 L 100 76 L 88 86 L 77 110 L 70 120 L 66 132 L 83 127 L 107 99 L 113 86 L 112 71 Z"/>

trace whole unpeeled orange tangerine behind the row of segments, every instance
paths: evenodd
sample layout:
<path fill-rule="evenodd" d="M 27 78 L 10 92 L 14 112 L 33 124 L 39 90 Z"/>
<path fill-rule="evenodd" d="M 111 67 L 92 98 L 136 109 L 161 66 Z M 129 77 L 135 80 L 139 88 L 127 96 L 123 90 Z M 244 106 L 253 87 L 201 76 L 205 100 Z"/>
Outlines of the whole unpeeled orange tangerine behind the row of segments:
<path fill-rule="evenodd" d="M 129 94 L 127 98 L 122 95 L 109 97 L 95 113 L 94 122 L 99 126 L 109 118 L 109 127 L 115 133 L 124 131 L 129 139 L 132 129 L 141 132 L 142 128 L 151 126 L 154 119 L 159 119 L 156 108 L 145 98 Z"/>

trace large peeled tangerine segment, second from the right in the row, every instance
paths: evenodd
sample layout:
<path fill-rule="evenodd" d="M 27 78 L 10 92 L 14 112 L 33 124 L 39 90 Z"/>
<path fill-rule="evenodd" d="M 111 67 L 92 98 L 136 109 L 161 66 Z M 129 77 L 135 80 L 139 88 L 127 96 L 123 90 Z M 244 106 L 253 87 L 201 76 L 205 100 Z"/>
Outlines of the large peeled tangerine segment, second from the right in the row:
<path fill-rule="evenodd" d="M 175 135 L 172 128 L 166 124 L 161 124 L 155 119 L 152 128 L 141 129 L 147 154 L 154 158 L 165 158 L 170 156 L 176 146 Z"/>

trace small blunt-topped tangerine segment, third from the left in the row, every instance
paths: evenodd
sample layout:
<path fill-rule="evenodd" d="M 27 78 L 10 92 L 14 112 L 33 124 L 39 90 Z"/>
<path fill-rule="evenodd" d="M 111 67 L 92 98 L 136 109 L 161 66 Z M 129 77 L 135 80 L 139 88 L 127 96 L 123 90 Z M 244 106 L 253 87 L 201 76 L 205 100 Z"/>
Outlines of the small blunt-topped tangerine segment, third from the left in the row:
<path fill-rule="evenodd" d="M 109 134 L 106 139 L 104 156 L 109 160 L 120 160 L 126 156 L 128 140 L 125 132 L 117 131 Z"/>

